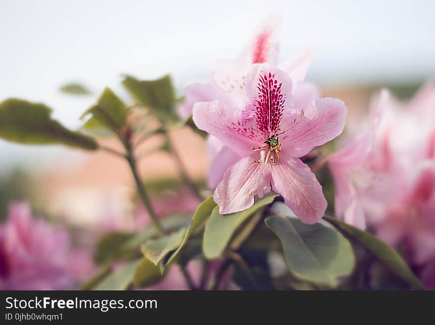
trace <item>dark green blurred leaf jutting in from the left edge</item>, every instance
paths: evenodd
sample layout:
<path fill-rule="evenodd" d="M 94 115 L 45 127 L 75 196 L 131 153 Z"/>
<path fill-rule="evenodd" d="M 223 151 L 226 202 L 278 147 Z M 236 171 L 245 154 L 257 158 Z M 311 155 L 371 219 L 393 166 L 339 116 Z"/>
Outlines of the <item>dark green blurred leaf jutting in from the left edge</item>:
<path fill-rule="evenodd" d="M 0 138 L 26 144 L 65 144 L 95 150 L 94 139 L 70 131 L 51 118 L 51 109 L 42 103 L 6 99 L 0 103 Z"/>

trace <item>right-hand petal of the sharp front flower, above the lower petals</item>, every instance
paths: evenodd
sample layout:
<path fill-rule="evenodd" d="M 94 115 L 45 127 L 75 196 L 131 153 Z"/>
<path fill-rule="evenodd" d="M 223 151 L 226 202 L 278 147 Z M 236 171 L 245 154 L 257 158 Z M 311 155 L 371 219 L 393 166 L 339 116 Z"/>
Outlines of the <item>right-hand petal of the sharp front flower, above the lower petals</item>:
<path fill-rule="evenodd" d="M 283 150 L 295 157 L 302 157 L 312 148 L 337 137 L 344 128 L 346 106 L 334 98 L 318 98 L 301 112 L 288 114 L 281 130 Z"/>

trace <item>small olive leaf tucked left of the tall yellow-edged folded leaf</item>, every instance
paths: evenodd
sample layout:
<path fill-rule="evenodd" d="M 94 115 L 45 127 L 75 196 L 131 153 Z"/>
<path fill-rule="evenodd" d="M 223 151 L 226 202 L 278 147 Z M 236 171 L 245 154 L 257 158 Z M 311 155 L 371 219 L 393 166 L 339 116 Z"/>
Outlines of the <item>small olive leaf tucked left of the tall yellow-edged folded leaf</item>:
<path fill-rule="evenodd" d="M 167 236 L 149 240 L 141 246 L 142 252 L 151 262 L 158 265 L 167 254 L 174 252 L 186 235 L 187 228 Z"/>

